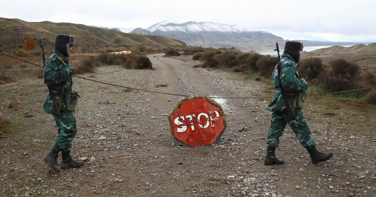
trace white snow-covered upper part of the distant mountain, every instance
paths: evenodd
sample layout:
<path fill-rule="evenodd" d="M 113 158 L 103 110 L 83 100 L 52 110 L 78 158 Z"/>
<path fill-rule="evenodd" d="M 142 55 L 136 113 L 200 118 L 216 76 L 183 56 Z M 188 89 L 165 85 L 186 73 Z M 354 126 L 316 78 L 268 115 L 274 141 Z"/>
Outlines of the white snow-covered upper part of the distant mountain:
<path fill-rule="evenodd" d="M 189 21 L 186 23 L 178 23 L 176 21 L 162 21 L 152 25 L 146 30 L 154 32 L 155 30 L 161 30 L 162 32 L 179 31 L 185 33 L 194 32 L 243 32 L 245 29 L 240 28 L 238 25 L 228 25 L 213 22 L 196 22 Z"/>

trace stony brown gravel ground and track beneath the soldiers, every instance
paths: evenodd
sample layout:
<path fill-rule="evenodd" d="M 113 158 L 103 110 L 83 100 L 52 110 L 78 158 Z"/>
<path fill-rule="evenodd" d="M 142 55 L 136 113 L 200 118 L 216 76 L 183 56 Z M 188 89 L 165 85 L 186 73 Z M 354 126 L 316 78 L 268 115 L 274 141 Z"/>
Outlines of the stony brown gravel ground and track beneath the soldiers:
<path fill-rule="evenodd" d="M 368 117 L 342 123 L 336 117 L 310 113 L 307 120 L 321 152 L 334 156 L 312 164 L 290 128 L 276 155 L 283 165 L 265 166 L 271 113 L 265 105 L 270 86 L 239 73 L 193 68 L 190 56 L 149 55 L 155 70 L 100 67 L 93 80 L 183 95 L 255 97 L 216 99 L 223 105 L 227 129 L 216 146 L 185 147 L 170 134 L 166 114 L 180 96 L 129 91 L 73 78 L 80 93 L 78 132 L 72 156 L 85 165 L 52 172 L 42 157 L 57 132 L 42 112 L 47 89 L 41 79 L 1 85 L 0 116 L 18 131 L 0 139 L 0 192 L 4 196 L 376 196 L 376 127 Z M 167 84 L 167 87 L 156 85 Z M 8 101 L 19 95 L 17 108 Z M 26 118 L 25 113 L 32 115 Z M 374 117 L 371 117 L 374 119 Z M 243 131 L 240 131 L 240 129 Z M 370 131 L 362 136 L 365 129 Z M 359 135 L 360 133 L 360 135 Z M 58 162 L 61 161 L 59 156 Z"/>

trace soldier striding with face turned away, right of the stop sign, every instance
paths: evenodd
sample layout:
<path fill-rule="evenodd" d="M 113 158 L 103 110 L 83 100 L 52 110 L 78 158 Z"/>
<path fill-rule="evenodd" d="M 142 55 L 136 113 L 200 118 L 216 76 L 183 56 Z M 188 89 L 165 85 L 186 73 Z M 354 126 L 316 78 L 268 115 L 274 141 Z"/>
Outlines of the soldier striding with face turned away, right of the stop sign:
<path fill-rule="evenodd" d="M 275 149 L 279 147 L 279 137 L 288 124 L 294 131 L 295 135 L 305 147 L 311 157 L 312 163 L 326 161 L 332 157 L 333 153 L 320 153 L 316 150 L 316 143 L 312 138 L 311 130 L 308 123 L 304 119 L 303 112 L 300 108 L 295 109 L 295 116 L 288 117 L 286 112 L 285 99 L 282 97 L 280 86 L 283 85 L 288 93 L 295 94 L 297 92 L 305 92 L 308 83 L 301 78 L 297 69 L 297 62 L 300 59 L 300 52 L 303 51 L 303 43 L 288 41 L 285 44 L 284 53 L 281 55 L 281 73 L 280 80 L 278 78 L 277 66 L 272 73 L 273 85 L 277 88 L 274 92 L 271 102 L 266 109 L 273 111 L 271 119 L 270 131 L 267 140 L 267 155 L 264 160 L 265 165 L 283 164 L 282 159 L 277 159 Z M 282 84 L 281 84 L 282 83 Z M 293 105 L 294 96 L 288 96 L 288 100 Z"/>

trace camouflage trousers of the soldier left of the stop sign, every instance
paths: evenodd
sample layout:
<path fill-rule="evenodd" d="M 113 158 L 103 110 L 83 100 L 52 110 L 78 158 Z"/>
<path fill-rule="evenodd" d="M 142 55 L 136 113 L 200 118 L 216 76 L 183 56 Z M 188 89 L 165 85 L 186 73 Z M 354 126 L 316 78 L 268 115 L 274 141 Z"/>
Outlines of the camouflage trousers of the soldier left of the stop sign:
<path fill-rule="evenodd" d="M 70 150 L 73 138 L 77 134 L 76 117 L 74 117 L 73 112 L 67 110 L 61 111 L 61 116 L 52 115 L 59 130 L 55 145 L 57 145 L 60 150 Z"/>

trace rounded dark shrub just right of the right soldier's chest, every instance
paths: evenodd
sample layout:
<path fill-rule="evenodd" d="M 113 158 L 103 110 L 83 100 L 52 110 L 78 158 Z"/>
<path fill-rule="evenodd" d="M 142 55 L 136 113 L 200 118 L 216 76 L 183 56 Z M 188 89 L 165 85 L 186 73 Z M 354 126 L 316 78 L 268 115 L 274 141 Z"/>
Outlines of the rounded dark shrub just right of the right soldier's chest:
<path fill-rule="evenodd" d="M 320 58 L 308 57 L 299 61 L 299 73 L 302 78 L 312 80 L 324 72 L 323 63 Z"/>

